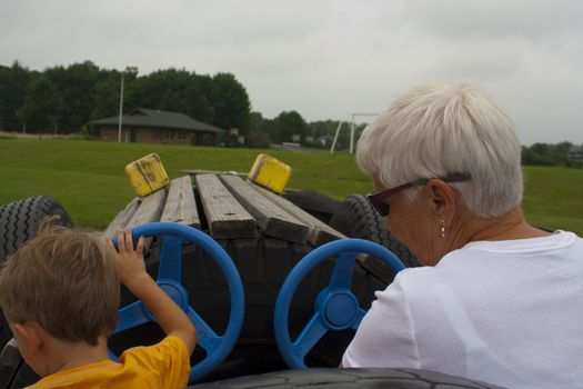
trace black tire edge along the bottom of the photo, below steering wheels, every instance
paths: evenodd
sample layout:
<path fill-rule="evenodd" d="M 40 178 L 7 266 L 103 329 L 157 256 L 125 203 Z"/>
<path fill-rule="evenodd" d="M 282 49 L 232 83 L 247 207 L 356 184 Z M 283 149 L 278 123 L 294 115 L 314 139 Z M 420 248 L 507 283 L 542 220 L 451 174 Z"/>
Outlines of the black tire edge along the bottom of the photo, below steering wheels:
<path fill-rule="evenodd" d="M 383 388 L 383 389 L 500 389 L 501 387 L 441 372 L 414 369 L 284 370 L 199 383 L 190 389 L 248 388 Z"/>

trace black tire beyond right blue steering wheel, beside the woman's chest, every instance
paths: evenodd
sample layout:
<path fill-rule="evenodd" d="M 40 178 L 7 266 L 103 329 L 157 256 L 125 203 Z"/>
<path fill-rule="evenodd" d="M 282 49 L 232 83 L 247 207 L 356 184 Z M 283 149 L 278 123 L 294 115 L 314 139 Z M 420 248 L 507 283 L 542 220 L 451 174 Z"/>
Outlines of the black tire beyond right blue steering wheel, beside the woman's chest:
<path fill-rule="evenodd" d="M 349 196 L 330 220 L 330 226 L 350 238 L 366 239 L 386 247 L 408 268 L 420 266 L 418 259 L 409 251 L 406 246 L 394 239 L 391 232 L 384 228 L 383 218 L 372 208 L 365 196 Z M 382 265 L 380 267 L 374 266 L 373 269 L 369 270 L 385 282 L 391 282 L 394 277 L 392 271 Z"/>

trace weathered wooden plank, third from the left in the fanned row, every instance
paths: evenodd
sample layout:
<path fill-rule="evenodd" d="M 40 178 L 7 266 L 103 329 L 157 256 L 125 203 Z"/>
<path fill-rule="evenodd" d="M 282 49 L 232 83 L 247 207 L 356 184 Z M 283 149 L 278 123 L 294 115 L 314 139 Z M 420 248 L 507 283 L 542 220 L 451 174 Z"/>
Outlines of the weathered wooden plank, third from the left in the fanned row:
<path fill-rule="evenodd" d="M 200 218 L 190 176 L 170 181 L 164 210 L 160 221 L 173 221 L 200 229 Z"/>

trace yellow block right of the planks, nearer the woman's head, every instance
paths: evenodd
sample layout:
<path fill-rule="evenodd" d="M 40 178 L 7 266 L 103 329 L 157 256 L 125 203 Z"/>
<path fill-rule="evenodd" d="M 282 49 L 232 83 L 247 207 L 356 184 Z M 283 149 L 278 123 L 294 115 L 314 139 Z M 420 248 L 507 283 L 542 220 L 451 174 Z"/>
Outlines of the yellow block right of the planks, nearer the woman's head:
<path fill-rule="evenodd" d="M 264 188 L 283 193 L 290 180 L 291 168 L 282 161 L 268 154 L 259 154 L 248 178 Z"/>

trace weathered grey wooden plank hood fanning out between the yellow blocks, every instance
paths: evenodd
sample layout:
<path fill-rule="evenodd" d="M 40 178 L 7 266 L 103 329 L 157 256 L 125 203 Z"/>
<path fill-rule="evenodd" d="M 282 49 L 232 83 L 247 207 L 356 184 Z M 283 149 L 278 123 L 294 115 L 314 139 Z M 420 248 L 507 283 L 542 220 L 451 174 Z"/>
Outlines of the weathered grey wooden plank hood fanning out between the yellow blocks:
<path fill-rule="evenodd" d="M 318 247 L 344 238 L 285 198 L 229 173 L 199 173 L 193 180 L 183 176 L 167 188 L 134 198 L 104 235 L 152 221 L 192 226 L 218 240 L 265 236 Z"/>

